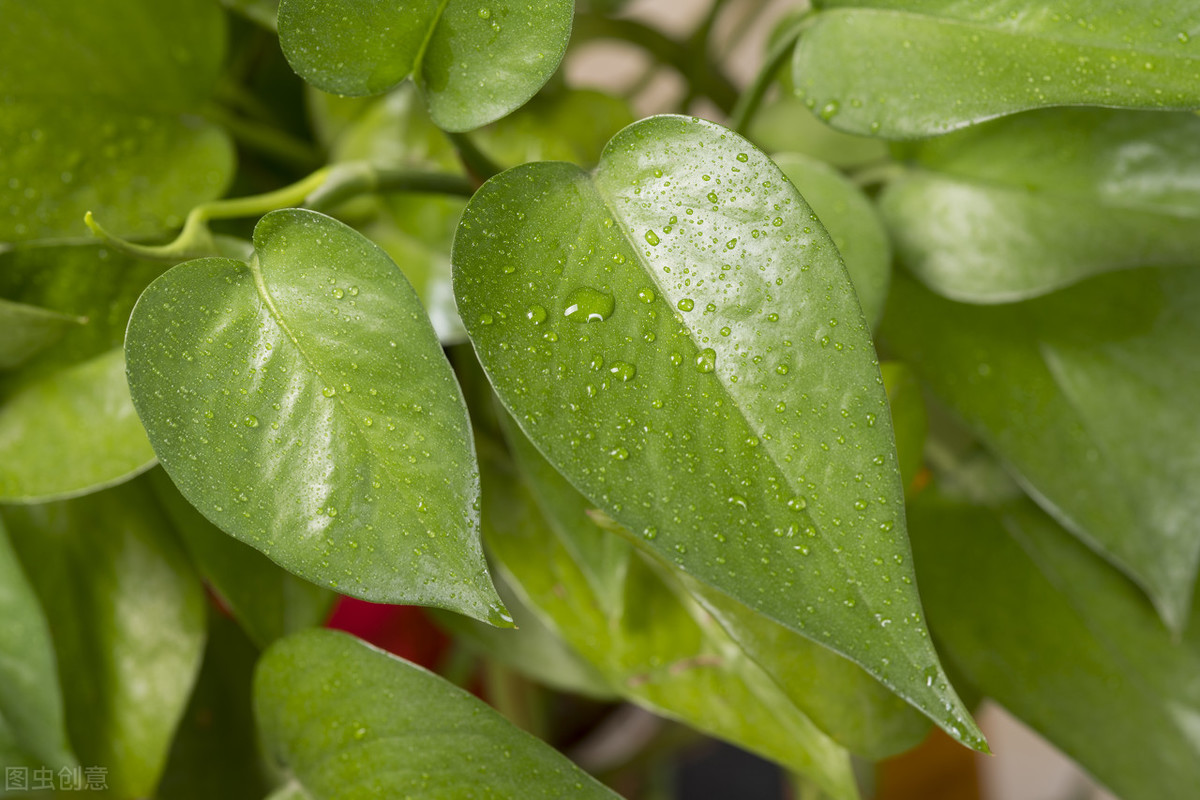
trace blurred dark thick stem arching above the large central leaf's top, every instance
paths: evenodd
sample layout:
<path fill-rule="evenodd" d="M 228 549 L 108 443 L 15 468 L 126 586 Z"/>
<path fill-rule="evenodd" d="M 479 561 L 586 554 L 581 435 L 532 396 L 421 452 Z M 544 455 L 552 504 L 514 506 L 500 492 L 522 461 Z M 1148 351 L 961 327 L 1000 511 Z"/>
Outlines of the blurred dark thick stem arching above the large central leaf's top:
<path fill-rule="evenodd" d="M 634 19 L 611 19 L 582 13 L 575 18 L 576 41 L 617 38 L 641 47 L 661 64 L 674 67 L 698 94 L 712 100 L 728 114 L 738 100 L 738 88 L 708 58 L 662 31 Z"/>

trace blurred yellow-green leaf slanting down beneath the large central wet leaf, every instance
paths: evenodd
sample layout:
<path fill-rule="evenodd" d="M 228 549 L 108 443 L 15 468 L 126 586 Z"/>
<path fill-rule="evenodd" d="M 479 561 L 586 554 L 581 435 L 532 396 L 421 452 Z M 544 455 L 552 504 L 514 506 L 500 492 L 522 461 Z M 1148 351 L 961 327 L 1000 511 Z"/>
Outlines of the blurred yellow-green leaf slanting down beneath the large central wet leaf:
<path fill-rule="evenodd" d="M 511 467 L 485 462 L 485 541 L 542 624 L 623 697 L 785 764 L 839 800 L 857 798 L 848 753 L 677 581 L 592 522 L 590 504 L 533 445 L 512 443 L 534 482 L 522 486 Z M 606 551 L 606 564 L 584 560 Z"/>

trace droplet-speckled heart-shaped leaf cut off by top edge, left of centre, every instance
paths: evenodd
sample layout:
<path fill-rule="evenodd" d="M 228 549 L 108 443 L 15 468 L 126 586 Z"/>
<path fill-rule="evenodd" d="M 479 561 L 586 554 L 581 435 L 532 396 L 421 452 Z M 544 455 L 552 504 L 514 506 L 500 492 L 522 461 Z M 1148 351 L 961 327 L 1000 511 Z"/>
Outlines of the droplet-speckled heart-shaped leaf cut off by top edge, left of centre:
<path fill-rule="evenodd" d="M 337 95 L 413 76 L 433 121 L 469 131 L 509 114 L 558 68 L 569 0 L 283 0 L 280 43 L 296 73 Z"/>

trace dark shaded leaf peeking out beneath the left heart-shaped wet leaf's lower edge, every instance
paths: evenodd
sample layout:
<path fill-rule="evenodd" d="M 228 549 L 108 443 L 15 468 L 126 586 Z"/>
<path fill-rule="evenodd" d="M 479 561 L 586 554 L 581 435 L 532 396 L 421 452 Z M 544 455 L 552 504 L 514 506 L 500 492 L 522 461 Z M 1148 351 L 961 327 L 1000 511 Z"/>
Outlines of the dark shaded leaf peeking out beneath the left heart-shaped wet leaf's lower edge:
<path fill-rule="evenodd" d="M 197 571 L 257 646 L 325 621 L 336 595 L 286 572 L 210 523 L 162 470 L 148 477 Z"/>

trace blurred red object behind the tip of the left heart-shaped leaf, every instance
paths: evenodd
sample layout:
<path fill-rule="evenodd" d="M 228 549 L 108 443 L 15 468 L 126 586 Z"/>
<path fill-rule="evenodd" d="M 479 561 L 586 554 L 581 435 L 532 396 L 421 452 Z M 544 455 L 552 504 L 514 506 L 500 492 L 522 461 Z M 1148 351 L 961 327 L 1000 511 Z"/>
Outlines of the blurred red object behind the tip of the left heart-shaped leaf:
<path fill-rule="evenodd" d="M 437 669 L 450 644 L 419 606 L 384 606 L 342 597 L 325 626 L 353 633 L 426 669 Z"/>

